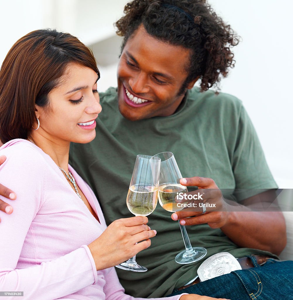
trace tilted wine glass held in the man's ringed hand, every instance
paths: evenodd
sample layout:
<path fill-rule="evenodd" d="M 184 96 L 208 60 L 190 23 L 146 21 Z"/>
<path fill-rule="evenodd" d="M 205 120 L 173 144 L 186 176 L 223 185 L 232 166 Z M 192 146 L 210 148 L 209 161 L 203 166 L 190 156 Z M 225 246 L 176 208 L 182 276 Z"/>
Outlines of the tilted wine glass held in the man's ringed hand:
<path fill-rule="evenodd" d="M 182 210 L 182 205 L 177 205 L 175 199 L 178 193 L 186 193 L 188 190 L 184 185 L 179 183 L 182 176 L 173 153 L 162 152 L 154 155 L 153 158 L 161 158 L 158 197 L 162 208 L 171 212 Z M 180 220 L 178 221 L 185 244 L 185 250 L 176 255 L 175 261 L 185 265 L 202 259 L 206 256 L 206 249 L 202 247 L 192 247 L 185 226 L 180 224 Z"/>

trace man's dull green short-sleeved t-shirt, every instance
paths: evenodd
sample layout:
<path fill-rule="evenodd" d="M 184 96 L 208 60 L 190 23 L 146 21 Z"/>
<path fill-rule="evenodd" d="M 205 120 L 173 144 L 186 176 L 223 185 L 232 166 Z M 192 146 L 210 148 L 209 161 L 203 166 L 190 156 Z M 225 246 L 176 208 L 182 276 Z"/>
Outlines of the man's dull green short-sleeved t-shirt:
<path fill-rule="evenodd" d="M 193 88 L 172 116 L 135 122 L 120 114 L 116 88 L 100 93 L 100 101 L 96 138 L 73 144 L 70 164 L 98 197 L 107 224 L 133 216 L 126 195 L 138 154 L 173 152 L 183 177 L 210 177 L 221 189 L 277 188 L 253 125 L 241 101 L 231 95 Z M 157 205 L 148 216 L 148 225 L 158 233 L 152 245 L 137 255 L 137 262 L 148 271 L 116 270 L 126 293 L 161 297 L 196 276 L 204 259 L 188 265 L 175 262 L 184 244 L 179 224 L 170 215 Z M 187 231 L 192 246 L 207 249 L 205 259 L 225 251 L 235 257 L 266 253 L 239 248 L 207 224 L 187 226 Z"/>

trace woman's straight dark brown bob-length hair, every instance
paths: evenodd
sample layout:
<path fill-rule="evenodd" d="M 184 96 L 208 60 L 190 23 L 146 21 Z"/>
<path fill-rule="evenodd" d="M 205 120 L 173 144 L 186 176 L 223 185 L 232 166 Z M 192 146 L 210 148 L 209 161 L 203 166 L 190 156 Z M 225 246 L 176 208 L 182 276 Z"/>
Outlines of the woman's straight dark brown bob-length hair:
<path fill-rule="evenodd" d="M 0 139 L 26 139 L 36 121 L 35 104 L 48 107 L 49 92 L 69 63 L 99 70 L 78 38 L 51 29 L 35 30 L 9 50 L 0 70 Z"/>

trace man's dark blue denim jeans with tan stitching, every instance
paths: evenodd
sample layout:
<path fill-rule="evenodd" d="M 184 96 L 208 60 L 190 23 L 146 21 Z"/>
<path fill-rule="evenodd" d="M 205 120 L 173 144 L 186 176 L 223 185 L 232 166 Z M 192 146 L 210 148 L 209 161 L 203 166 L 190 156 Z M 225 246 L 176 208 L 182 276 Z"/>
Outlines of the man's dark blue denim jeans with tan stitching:
<path fill-rule="evenodd" d="M 231 300 L 293 300 L 293 261 L 268 259 L 255 268 L 233 271 L 178 291 Z"/>

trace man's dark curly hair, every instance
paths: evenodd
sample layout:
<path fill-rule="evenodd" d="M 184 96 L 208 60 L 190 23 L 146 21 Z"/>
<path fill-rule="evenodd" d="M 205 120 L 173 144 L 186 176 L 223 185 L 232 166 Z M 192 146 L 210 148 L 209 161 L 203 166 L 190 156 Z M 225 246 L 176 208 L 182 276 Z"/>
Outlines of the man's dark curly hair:
<path fill-rule="evenodd" d="M 221 75 L 226 77 L 228 67 L 235 65 L 231 47 L 239 37 L 206 0 L 134 0 L 126 4 L 124 13 L 116 22 L 117 34 L 124 37 L 121 50 L 141 24 L 154 38 L 191 49 L 180 94 L 198 76 L 201 91 L 217 87 Z"/>

